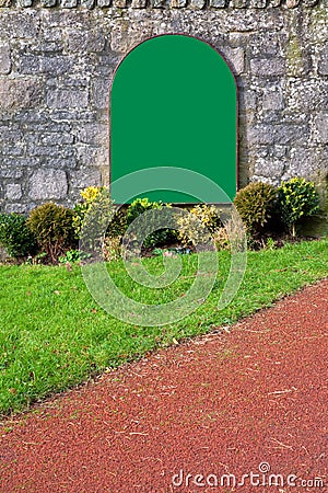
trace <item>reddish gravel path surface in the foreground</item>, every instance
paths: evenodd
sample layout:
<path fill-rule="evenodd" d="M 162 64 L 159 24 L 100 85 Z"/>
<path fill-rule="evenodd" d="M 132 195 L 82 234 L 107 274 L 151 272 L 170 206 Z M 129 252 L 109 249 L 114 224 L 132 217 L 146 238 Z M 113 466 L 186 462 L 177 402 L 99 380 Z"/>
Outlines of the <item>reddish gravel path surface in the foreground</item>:
<path fill-rule="evenodd" d="M 0 491 L 327 492 L 327 335 L 324 280 L 46 402 L 0 429 Z"/>

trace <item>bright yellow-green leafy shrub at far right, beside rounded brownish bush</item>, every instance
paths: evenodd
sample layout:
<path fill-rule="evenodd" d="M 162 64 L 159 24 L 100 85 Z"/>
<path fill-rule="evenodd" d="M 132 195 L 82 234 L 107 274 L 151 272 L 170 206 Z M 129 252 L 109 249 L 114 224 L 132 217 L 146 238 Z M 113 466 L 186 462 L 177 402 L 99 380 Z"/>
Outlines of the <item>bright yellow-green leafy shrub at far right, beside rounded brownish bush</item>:
<path fill-rule="evenodd" d="M 319 195 L 313 182 L 293 177 L 278 190 L 278 204 L 281 218 L 290 233 L 296 236 L 296 222 L 309 217 L 319 209 Z"/>

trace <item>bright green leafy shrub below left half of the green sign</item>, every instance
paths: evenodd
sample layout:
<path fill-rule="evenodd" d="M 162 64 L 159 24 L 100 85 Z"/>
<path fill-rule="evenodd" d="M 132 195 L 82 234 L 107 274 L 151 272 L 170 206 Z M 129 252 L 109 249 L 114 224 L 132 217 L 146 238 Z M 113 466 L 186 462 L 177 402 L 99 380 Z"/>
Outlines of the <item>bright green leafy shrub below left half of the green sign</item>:
<path fill-rule="evenodd" d="M 163 209 L 165 207 L 171 207 L 171 205 L 163 204 L 162 202 L 150 202 L 149 198 L 147 198 L 147 197 L 137 198 L 128 207 L 127 225 L 130 225 L 131 222 L 133 222 L 133 220 L 137 219 L 138 216 L 142 215 L 147 210 Z M 147 220 L 147 226 L 149 227 L 150 218 L 148 217 L 145 220 Z M 142 225 L 142 222 L 141 222 L 141 225 Z M 155 222 L 154 222 L 153 231 L 155 231 L 155 230 L 156 230 L 156 227 L 155 227 Z M 143 245 L 145 248 L 163 245 L 165 243 L 175 242 L 176 239 L 177 239 L 176 231 L 174 231 L 173 229 L 169 229 L 169 228 L 163 228 L 163 229 L 159 229 L 155 232 L 149 234 L 145 238 Z"/>

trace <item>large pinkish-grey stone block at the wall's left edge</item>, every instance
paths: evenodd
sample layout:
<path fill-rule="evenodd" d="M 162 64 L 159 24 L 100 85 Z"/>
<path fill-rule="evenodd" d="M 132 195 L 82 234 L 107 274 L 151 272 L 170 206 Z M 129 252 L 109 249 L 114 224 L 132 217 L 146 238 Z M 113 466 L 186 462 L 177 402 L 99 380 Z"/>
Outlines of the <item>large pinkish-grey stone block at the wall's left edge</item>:
<path fill-rule="evenodd" d="M 32 79 L 0 79 L 0 113 L 38 106 L 43 101 L 42 82 Z"/>

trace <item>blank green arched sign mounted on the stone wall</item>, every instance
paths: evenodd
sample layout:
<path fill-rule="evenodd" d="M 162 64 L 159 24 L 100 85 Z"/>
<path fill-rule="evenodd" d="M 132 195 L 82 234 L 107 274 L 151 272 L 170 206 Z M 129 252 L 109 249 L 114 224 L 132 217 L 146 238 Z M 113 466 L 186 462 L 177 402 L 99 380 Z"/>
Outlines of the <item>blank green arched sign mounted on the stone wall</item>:
<path fill-rule="evenodd" d="M 185 168 L 213 180 L 233 200 L 236 104 L 234 77 L 207 43 L 185 35 L 143 42 L 119 65 L 112 85 L 112 182 L 147 168 Z M 174 192 L 178 186 L 173 173 L 173 191 L 162 191 L 159 183 L 157 191 L 145 195 L 198 202 Z M 225 194 L 216 202 L 227 202 Z"/>

